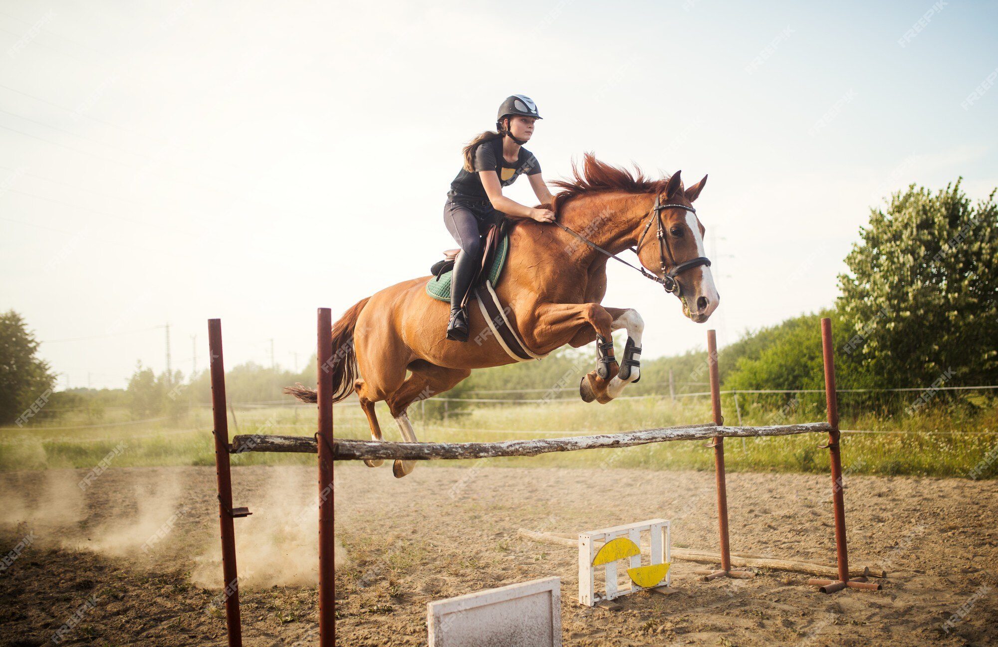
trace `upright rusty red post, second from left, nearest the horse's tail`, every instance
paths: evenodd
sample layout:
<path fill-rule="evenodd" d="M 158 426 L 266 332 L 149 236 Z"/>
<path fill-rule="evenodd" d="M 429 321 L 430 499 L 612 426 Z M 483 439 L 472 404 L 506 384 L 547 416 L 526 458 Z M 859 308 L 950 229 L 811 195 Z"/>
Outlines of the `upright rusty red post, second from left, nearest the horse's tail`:
<path fill-rule="evenodd" d="M 332 473 L 332 313 L 318 309 L 318 644 L 336 643 Z"/>

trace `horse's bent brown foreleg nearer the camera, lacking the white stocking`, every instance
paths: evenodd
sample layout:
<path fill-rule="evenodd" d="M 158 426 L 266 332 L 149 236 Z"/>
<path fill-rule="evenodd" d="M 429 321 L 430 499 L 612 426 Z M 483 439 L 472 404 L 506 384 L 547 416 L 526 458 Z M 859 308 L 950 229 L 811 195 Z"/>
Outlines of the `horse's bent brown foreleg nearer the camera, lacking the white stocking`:
<path fill-rule="evenodd" d="M 565 338 L 579 347 L 594 339 L 600 344 L 596 369 L 583 376 L 579 383 L 582 399 L 594 399 L 606 404 L 613 396 L 608 392 L 611 381 L 620 371 L 614 356 L 613 322 L 614 317 L 599 304 L 544 304 L 537 308 L 536 330 L 543 330 L 552 337 Z M 545 345 L 537 339 L 537 346 Z"/>

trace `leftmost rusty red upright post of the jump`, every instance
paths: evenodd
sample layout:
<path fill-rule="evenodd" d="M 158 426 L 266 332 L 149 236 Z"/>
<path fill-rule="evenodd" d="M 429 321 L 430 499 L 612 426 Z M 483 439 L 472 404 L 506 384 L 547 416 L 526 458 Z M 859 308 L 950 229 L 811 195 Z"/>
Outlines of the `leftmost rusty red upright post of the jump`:
<path fill-rule="evenodd" d="M 233 481 L 229 471 L 229 420 L 226 417 L 226 368 L 222 359 L 222 320 L 208 321 L 212 367 L 212 415 L 215 420 L 215 472 L 219 485 L 222 525 L 222 572 L 225 576 L 226 626 L 229 647 L 243 646 L 240 621 L 240 581 L 236 570 L 236 528 L 233 524 Z"/>

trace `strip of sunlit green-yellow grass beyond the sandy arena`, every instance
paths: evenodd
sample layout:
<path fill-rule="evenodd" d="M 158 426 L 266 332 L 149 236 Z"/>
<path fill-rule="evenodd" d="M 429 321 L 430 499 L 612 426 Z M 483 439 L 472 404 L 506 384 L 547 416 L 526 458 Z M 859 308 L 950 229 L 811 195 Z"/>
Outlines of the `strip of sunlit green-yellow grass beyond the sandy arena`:
<path fill-rule="evenodd" d="M 724 397 L 725 419 L 744 424 L 777 424 L 824 419 L 818 398 L 794 400 L 792 407 L 775 408 L 743 401 L 736 411 Z M 463 404 L 463 403 L 462 403 Z M 924 476 L 998 476 L 998 409 L 979 407 L 954 413 L 952 407 L 926 407 L 915 415 L 847 416 L 841 427 L 873 433 L 843 435 L 846 473 L 912 474 Z M 214 464 L 212 412 L 193 407 L 178 416 L 131 423 L 105 424 L 59 420 L 46 426 L 0 429 L 0 470 L 93 468 L 123 466 Z M 230 414 L 230 433 L 310 435 L 314 406 L 238 408 Z M 609 433 L 710 420 L 707 397 L 667 397 L 617 400 L 609 405 L 579 400 L 544 403 L 478 404 L 452 410 L 447 419 L 426 416 L 418 404 L 411 410 L 420 440 L 440 442 L 494 441 Z M 387 439 L 401 439 L 387 408 L 378 416 Z M 111 416 L 115 417 L 115 416 Z M 123 417 L 119 415 L 117 417 Z M 369 430 L 359 408 L 350 402 L 335 406 L 337 437 L 367 438 Z M 73 424 L 67 424 L 73 423 Z M 72 428 L 66 428 L 72 427 Z M 817 434 L 766 438 L 730 438 L 727 465 L 733 471 L 827 471 L 826 452 L 817 447 Z M 665 442 L 620 449 L 559 452 L 534 457 L 486 459 L 496 466 L 616 467 L 642 469 L 713 469 L 714 453 L 703 442 Z M 234 455 L 234 464 L 312 464 L 310 454 L 249 453 Z M 433 461 L 436 462 L 436 461 Z M 471 466 L 479 461 L 439 461 Z"/>

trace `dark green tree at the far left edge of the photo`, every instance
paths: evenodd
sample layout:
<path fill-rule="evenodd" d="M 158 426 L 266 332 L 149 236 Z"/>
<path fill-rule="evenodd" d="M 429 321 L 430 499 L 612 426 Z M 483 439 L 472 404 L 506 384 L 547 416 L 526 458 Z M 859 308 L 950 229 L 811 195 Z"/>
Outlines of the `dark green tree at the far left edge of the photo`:
<path fill-rule="evenodd" d="M 0 423 L 17 420 L 33 403 L 52 394 L 55 374 L 36 356 L 39 341 L 13 310 L 0 315 Z M 41 399 L 40 399 L 41 398 Z"/>

